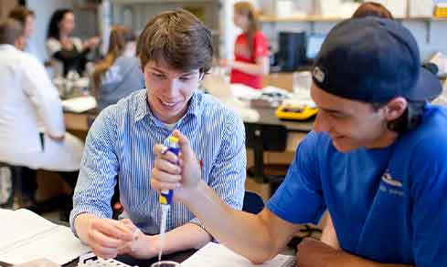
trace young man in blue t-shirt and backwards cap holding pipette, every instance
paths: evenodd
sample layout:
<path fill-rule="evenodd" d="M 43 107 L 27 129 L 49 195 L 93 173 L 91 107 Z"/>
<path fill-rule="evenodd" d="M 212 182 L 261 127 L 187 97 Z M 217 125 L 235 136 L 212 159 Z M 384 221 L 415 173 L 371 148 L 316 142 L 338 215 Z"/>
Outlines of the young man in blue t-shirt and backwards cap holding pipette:
<path fill-rule="evenodd" d="M 367 17 L 331 30 L 314 64 L 314 131 L 258 215 L 231 210 L 200 180 L 188 140 L 176 157 L 156 147 L 156 189 L 176 189 L 206 229 L 234 252 L 264 262 L 297 224 L 327 209 L 335 241 L 303 241 L 303 266 L 447 266 L 447 111 L 420 68 L 414 37 L 399 23 Z"/>

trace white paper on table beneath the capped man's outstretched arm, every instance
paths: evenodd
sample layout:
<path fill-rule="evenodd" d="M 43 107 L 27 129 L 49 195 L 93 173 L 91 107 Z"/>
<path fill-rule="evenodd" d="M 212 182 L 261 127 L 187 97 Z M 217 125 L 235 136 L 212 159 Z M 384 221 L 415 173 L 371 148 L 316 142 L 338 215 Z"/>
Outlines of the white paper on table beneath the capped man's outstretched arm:
<path fill-rule="evenodd" d="M 244 257 L 231 252 L 228 248 L 221 244 L 209 242 L 206 246 L 198 250 L 185 262 L 182 267 L 245 267 L 245 266 L 261 266 L 261 267 L 282 267 L 296 266 L 293 256 L 278 255 L 269 262 L 263 264 L 253 264 Z"/>

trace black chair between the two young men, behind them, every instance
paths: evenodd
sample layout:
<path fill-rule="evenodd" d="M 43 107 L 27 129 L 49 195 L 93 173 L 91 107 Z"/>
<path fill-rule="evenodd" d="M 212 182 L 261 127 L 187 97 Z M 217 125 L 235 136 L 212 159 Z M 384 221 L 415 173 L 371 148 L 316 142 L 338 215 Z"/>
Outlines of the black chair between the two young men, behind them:
<path fill-rule="evenodd" d="M 264 152 L 284 151 L 287 129 L 282 125 L 246 123 L 245 134 L 246 146 L 254 151 L 254 167 L 248 169 L 248 175 L 259 182 L 268 182 L 273 194 L 284 180 L 289 164 L 264 164 Z"/>

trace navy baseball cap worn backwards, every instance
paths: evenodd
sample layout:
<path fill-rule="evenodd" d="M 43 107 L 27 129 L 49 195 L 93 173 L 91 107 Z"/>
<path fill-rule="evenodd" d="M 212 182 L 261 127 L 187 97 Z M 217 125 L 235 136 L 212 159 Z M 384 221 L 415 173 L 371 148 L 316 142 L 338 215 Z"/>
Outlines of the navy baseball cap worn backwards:
<path fill-rule="evenodd" d="M 347 19 L 329 32 L 315 59 L 313 80 L 330 94 L 368 103 L 395 97 L 431 100 L 442 91 L 438 77 L 420 67 L 410 31 L 372 16 Z"/>

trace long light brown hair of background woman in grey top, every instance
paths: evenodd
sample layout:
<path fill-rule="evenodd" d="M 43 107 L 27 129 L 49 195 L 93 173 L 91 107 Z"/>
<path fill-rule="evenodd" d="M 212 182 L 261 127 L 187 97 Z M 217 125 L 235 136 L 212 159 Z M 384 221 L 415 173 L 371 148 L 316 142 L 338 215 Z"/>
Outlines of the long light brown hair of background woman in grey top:
<path fill-rule="evenodd" d="M 124 48 L 129 42 L 136 40 L 133 31 L 123 25 L 114 25 L 111 29 L 111 36 L 109 37 L 109 49 L 103 60 L 95 65 L 95 70 L 92 75 L 93 85 L 92 89 L 95 94 L 99 92 L 101 87 L 102 75 L 112 67 L 116 58 L 122 56 Z"/>

